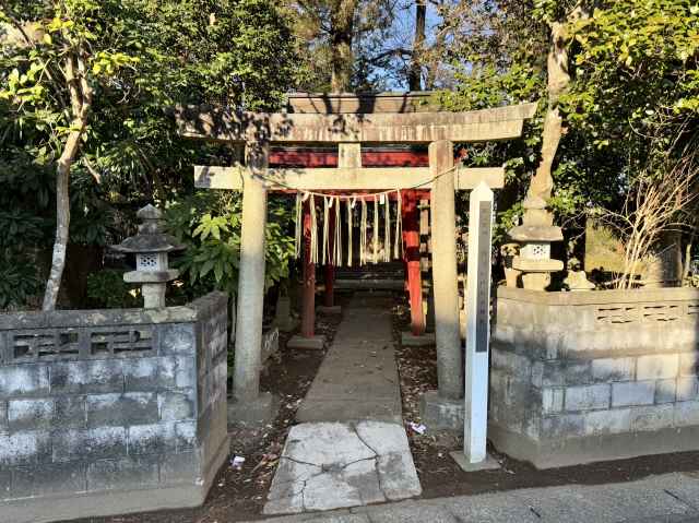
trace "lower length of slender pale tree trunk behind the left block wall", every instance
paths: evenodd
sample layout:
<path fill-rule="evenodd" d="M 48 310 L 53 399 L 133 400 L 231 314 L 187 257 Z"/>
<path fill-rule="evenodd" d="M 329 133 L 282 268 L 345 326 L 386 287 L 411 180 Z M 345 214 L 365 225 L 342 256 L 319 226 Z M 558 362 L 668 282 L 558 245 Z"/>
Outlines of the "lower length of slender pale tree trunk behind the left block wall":
<path fill-rule="evenodd" d="M 56 239 L 51 272 L 46 282 L 43 310 L 54 310 L 58 300 L 58 292 L 66 266 L 66 251 L 68 249 L 68 231 L 70 227 L 70 168 L 80 148 L 80 139 L 85 129 L 84 121 L 73 122 L 73 130 L 68 135 L 63 153 L 58 159 L 56 168 Z"/>

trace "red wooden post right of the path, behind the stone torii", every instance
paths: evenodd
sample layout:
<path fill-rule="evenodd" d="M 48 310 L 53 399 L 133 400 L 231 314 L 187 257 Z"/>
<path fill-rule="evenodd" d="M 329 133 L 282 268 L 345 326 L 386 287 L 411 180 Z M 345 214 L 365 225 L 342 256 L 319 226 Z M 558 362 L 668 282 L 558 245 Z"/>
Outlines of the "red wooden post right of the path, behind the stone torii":
<path fill-rule="evenodd" d="M 419 266 L 419 209 L 412 191 L 403 195 L 403 238 L 407 265 L 407 292 L 411 304 L 411 331 L 416 336 L 425 333 L 423 313 L 423 282 Z"/>

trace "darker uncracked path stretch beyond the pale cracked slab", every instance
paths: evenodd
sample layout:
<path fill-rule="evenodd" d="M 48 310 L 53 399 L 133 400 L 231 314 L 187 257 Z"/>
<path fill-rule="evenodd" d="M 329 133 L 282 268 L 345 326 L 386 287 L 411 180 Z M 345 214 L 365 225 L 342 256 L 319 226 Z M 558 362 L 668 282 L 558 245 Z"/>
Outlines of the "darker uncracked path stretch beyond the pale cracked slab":
<path fill-rule="evenodd" d="M 390 295 L 354 295 L 297 421 L 402 423 L 392 304 Z"/>

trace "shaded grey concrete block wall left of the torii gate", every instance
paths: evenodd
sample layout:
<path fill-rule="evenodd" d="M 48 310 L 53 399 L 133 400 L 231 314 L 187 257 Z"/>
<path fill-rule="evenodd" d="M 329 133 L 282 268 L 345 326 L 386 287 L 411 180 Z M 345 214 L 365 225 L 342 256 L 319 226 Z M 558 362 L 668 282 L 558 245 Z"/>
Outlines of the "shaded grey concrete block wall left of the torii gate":
<path fill-rule="evenodd" d="M 0 314 L 0 522 L 201 504 L 228 454 L 226 302 Z"/>

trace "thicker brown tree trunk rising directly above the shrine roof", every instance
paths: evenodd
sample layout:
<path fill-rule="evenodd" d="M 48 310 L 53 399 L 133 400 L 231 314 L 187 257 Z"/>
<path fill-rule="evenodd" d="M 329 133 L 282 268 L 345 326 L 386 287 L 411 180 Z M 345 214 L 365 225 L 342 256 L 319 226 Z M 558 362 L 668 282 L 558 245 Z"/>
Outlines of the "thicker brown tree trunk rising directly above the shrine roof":
<path fill-rule="evenodd" d="M 354 13 L 357 0 L 334 0 L 330 14 L 332 26 L 332 76 L 330 87 L 333 93 L 350 91 L 354 56 L 352 37 L 354 33 Z"/>

